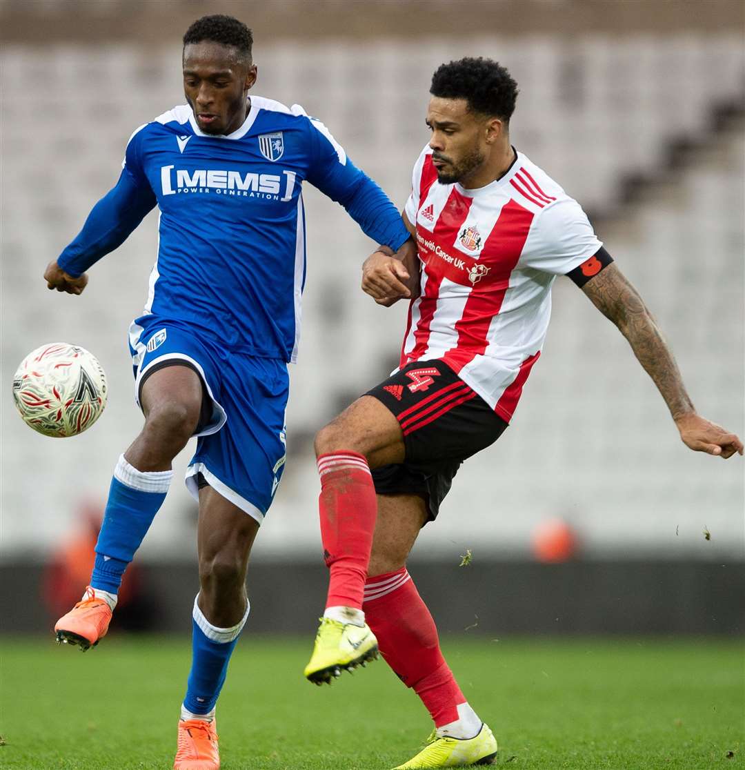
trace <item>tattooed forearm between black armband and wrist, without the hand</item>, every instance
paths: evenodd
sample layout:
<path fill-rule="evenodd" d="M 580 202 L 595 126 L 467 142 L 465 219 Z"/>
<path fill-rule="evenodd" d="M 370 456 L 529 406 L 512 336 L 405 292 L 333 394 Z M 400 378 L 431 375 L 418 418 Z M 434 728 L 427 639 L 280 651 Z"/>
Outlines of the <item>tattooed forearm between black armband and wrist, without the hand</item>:
<path fill-rule="evenodd" d="M 600 313 L 613 321 L 629 341 L 634 355 L 660 390 L 673 420 L 693 411 L 683 378 L 656 321 L 639 293 L 615 264 L 583 286 Z"/>

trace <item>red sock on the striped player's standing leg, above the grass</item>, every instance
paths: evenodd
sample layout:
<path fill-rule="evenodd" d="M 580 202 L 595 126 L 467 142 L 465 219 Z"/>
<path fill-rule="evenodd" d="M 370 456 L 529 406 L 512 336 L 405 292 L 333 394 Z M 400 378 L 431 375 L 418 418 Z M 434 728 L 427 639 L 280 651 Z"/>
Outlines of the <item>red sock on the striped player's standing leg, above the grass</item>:
<path fill-rule="evenodd" d="M 439 650 L 435 621 L 406 567 L 368 577 L 364 610 L 380 654 L 404 685 L 422 698 L 435 726 L 456 721 L 456 707 L 466 698 Z"/>

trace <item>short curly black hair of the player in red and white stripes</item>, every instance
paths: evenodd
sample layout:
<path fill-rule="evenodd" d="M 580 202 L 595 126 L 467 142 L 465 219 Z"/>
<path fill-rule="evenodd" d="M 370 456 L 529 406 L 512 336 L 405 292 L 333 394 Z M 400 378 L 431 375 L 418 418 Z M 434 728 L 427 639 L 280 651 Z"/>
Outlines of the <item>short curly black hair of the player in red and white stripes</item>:
<path fill-rule="evenodd" d="M 493 59 L 466 56 L 441 64 L 432 76 L 429 93 L 443 99 L 466 99 L 470 110 L 495 115 L 509 124 L 515 110 L 517 83 Z"/>

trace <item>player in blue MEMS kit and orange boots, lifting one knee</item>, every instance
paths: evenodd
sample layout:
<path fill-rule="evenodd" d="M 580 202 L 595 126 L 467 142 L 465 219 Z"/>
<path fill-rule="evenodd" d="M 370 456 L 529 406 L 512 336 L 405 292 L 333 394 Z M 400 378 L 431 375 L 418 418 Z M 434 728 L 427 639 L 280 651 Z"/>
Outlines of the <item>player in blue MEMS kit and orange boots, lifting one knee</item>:
<path fill-rule="evenodd" d="M 149 296 L 129 330 L 145 425 L 115 466 L 91 584 L 55 631 L 83 649 L 105 635 L 171 461 L 199 437 L 186 484 L 199 499 L 200 590 L 174 768 L 212 770 L 215 702 L 249 615 L 249 552 L 285 461 L 306 271 L 302 182 L 341 203 L 386 253 L 413 245 L 393 203 L 322 123 L 249 97 L 257 68 L 246 25 L 205 16 L 183 42 L 188 105 L 132 134 L 119 182 L 45 271 L 49 289 L 81 293 L 85 270 L 159 207 Z"/>

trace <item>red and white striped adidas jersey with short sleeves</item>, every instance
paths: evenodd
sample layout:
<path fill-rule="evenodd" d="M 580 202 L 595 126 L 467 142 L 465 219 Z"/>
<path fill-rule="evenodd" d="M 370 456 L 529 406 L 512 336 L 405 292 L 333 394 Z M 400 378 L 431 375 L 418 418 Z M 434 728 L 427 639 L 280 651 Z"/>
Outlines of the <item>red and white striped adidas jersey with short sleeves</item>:
<path fill-rule="evenodd" d="M 400 366 L 439 358 L 509 422 L 551 315 L 551 285 L 603 245 L 576 201 L 522 152 L 479 189 L 440 184 L 426 147 L 406 216 L 421 294 Z"/>

